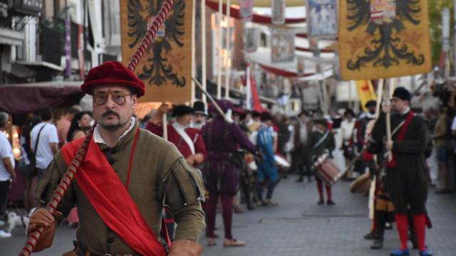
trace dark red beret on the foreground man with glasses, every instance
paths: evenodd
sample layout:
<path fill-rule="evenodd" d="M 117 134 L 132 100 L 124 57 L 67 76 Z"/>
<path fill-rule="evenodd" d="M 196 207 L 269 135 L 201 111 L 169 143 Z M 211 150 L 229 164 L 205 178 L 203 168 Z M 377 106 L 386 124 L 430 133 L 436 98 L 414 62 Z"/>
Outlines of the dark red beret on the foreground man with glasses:
<path fill-rule="evenodd" d="M 138 97 L 145 93 L 144 82 L 130 68 L 117 61 L 107 61 L 92 68 L 81 85 L 81 90 L 91 95 L 96 85 L 125 85 L 135 90 Z"/>

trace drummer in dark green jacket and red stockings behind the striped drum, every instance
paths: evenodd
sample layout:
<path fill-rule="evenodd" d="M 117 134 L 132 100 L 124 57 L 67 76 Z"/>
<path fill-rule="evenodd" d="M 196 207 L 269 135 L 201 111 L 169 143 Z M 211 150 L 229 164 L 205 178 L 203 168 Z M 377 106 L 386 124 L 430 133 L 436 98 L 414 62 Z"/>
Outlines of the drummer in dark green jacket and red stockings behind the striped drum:
<path fill-rule="evenodd" d="M 328 121 L 324 118 L 314 119 L 315 131 L 311 133 L 310 145 L 312 146 L 312 159 L 316 159 L 322 154 L 328 153 L 332 158 L 332 151 L 336 148 L 336 142 L 334 140 L 334 134 L 328 129 Z M 318 201 L 319 205 L 324 203 L 323 198 L 323 181 L 321 181 L 318 176 L 315 177 L 316 185 L 318 188 L 318 195 L 320 200 Z M 331 197 L 331 186 L 326 184 L 326 195 L 328 196 L 328 201 L 326 203 L 328 206 L 333 206 L 336 203 L 332 200 Z"/>

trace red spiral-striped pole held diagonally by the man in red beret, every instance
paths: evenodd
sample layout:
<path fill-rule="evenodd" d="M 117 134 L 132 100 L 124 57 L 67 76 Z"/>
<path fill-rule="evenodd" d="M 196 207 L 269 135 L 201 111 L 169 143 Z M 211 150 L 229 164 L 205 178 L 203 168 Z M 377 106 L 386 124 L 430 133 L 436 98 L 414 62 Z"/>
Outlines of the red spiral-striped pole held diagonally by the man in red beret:
<path fill-rule="evenodd" d="M 133 53 L 133 56 L 132 58 L 130 58 L 130 62 L 128 63 L 128 68 L 130 68 L 131 70 L 135 70 L 140 58 L 142 57 L 142 55 L 144 55 L 150 43 L 157 35 L 158 28 L 160 28 L 160 26 L 162 26 L 163 22 L 165 21 L 165 18 L 170 12 L 170 9 L 172 8 L 174 1 L 175 0 L 166 0 L 162 4 L 162 7 L 157 14 L 157 18 L 155 18 L 155 21 L 152 23 L 151 26 L 149 26 L 149 28 L 147 28 L 147 33 L 145 34 L 144 38 L 142 38 L 140 46 L 135 51 L 135 53 Z M 81 147 L 78 149 L 76 156 L 71 161 L 70 166 L 68 166 L 68 169 L 63 175 L 61 182 L 58 184 L 56 190 L 53 191 L 51 200 L 49 200 L 49 203 L 46 206 L 46 209 L 49 211 L 49 213 L 52 214 L 56 212 L 56 209 L 60 205 L 63 195 L 66 193 L 68 189 L 68 186 L 70 186 L 71 182 L 73 181 L 73 178 L 76 172 L 78 171 L 79 166 L 81 166 L 81 163 L 86 158 L 88 144 L 90 142 L 90 139 L 92 139 L 93 130 L 95 129 L 95 127 L 96 122 L 95 124 L 93 124 L 92 129 L 90 129 L 89 134 L 87 135 L 86 139 L 84 139 L 84 142 L 81 144 Z M 43 233 L 43 230 L 44 228 L 36 228 L 36 230 L 33 231 L 33 233 L 28 235 L 28 240 L 22 248 L 21 252 L 19 253 L 19 256 L 31 255 L 31 253 L 33 252 L 33 248 L 35 248 L 36 246 L 36 242 L 38 242 L 38 240 L 41 237 L 41 234 Z"/>

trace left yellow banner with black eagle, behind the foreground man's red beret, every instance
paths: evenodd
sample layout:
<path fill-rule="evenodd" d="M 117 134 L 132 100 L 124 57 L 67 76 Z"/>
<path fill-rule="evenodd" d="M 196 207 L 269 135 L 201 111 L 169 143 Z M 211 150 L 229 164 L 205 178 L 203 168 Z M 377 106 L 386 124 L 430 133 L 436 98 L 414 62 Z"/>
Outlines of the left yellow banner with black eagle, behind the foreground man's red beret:
<path fill-rule="evenodd" d="M 122 60 L 128 63 L 162 0 L 120 0 Z M 145 83 L 140 102 L 190 102 L 192 81 L 192 1 L 176 0 L 155 42 L 135 73 Z"/>

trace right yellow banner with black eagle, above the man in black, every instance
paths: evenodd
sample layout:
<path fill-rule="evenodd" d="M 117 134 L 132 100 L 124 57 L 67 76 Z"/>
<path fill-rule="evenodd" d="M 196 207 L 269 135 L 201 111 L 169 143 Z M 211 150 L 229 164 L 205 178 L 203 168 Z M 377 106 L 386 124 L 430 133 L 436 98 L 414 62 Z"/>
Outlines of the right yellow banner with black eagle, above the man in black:
<path fill-rule="evenodd" d="M 431 70 L 427 0 L 340 0 L 339 14 L 343 80 Z"/>

